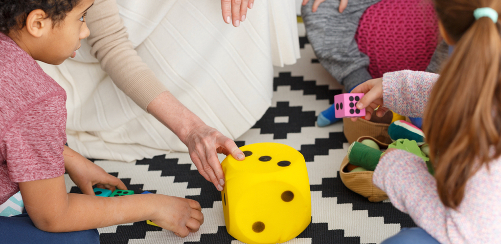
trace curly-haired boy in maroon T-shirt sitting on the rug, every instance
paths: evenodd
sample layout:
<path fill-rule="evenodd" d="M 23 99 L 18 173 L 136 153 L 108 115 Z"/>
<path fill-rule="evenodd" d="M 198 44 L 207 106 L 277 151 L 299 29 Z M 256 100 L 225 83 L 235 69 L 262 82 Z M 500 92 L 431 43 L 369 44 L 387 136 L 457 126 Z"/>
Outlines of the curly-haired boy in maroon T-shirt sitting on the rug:
<path fill-rule="evenodd" d="M 60 64 L 74 57 L 80 40 L 89 35 L 85 13 L 93 2 L 0 4 L 0 204 L 20 190 L 27 211 L 0 217 L 3 240 L 99 242 L 95 228 L 146 219 L 184 237 L 203 223 L 200 204 L 191 199 L 95 196 L 95 184 L 111 190 L 126 187 L 64 145 L 66 93 L 35 60 Z M 84 194 L 66 192 L 65 171 Z"/>

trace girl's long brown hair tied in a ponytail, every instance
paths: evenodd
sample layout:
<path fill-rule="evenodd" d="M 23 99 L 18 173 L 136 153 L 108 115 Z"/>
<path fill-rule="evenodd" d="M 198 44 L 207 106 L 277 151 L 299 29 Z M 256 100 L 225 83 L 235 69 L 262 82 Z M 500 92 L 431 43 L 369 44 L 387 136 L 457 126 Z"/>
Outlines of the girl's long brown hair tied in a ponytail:
<path fill-rule="evenodd" d="M 434 85 L 423 119 L 438 195 L 457 208 L 466 181 L 501 154 L 499 23 L 473 10 L 501 10 L 500 0 L 434 0 L 454 51 Z"/>

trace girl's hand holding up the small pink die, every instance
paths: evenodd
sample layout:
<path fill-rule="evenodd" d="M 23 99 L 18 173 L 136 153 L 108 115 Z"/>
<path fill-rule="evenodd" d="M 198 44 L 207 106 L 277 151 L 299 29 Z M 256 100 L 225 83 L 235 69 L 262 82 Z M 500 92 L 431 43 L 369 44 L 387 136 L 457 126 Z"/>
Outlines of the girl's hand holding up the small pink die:
<path fill-rule="evenodd" d="M 365 119 L 371 119 L 372 112 L 378 106 L 376 115 L 379 117 L 384 116 L 384 114 L 389 110 L 383 107 L 383 78 L 369 79 L 357 87 L 355 87 L 351 93 L 364 93 L 365 95 L 360 98 L 356 106 L 358 109 L 365 108 Z M 352 117 L 352 121 L 357 121 L 357 117 Z"/>

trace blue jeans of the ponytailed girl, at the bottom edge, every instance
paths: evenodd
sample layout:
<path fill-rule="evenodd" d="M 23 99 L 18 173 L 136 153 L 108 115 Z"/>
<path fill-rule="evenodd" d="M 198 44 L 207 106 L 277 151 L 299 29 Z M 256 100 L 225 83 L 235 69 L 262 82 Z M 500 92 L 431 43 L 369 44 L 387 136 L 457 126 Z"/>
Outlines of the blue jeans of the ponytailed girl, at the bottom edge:
<path fill-rule="evenodd" d="M 430 234 L 426 233 L 424 229 L 402 228 L 397 234 L 385 239 L 381 244 L 440 244 Z"/>

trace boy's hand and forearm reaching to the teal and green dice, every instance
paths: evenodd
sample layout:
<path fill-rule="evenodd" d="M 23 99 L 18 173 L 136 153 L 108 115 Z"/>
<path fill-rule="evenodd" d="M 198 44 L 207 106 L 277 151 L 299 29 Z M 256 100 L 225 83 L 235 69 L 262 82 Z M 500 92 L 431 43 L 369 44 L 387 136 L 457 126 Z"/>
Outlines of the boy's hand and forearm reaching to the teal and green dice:
<path fill-rule="evenodd" d="M 99 188 L 106 188 L 111 191 L 115 190 L 115 187 L 121 190 L 127 189 L 122 180 L 107 173 L 103 168 L 70 147 L 65 146 L 63 155 L 66 172 L 84 194 L 95 195 L 92 189 L 95 184 Z"/>

